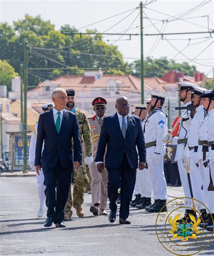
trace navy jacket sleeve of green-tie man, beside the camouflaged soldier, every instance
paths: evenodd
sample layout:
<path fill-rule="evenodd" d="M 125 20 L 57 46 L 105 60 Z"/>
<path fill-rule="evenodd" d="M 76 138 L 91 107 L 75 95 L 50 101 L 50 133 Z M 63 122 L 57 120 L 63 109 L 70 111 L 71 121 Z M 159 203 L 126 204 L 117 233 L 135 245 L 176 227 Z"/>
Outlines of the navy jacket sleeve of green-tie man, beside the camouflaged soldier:
<path fill-rule="evenodd" d="M 74 123 L 73 123 L 73 140 L 74 140 L 74 161 L 79 162 L 82 164 L 82 144 L 79 136 L 79 125 L 77 116 L 74 116 Z"/>

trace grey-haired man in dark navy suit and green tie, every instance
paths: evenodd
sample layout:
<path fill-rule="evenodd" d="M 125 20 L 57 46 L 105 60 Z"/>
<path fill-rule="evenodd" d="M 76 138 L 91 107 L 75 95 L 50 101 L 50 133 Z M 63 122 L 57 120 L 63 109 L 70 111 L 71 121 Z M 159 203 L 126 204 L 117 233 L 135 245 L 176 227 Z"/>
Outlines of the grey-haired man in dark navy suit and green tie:
<path fill-rule="evenodd" d="M 64 208 L 68 198 L 71 174 L 77 171 L 82 160 L 82 147 L 79 126 L 74 113 L 66 111 L 67 93 L 56 88 L 52 93 L 54 108 L 39 116 L 35 166 L 39 175 L 42 167 L 46 186 L 47 220 L 45 227 L 52 222 L 56 227 L 65 227 Z M 74 140 L 74 152 L 72 150 Z M 42 145 L 44 142 L 44 150 Z M 57 189 L 56 189 L 57 188 Z"/>

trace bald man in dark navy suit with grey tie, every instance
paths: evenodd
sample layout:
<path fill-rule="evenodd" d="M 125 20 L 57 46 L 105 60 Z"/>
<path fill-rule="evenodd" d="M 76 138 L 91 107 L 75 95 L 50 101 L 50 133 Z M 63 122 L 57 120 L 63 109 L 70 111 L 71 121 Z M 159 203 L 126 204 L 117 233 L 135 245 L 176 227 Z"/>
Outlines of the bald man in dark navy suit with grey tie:
<path fill-rule="evenodd" d="M 135 187 L 136 169 L 144 169 L 146 161 L 146 147 L 140 118 L 130 115 L 129 109 L 130 105 L 126 97 L 117 98 L 117 112 L 103 119 L 95 158 L 97 169 L 101 173 L 107 145 L 105 167 L 108 171 L 108 198 L 111 210 L 108 219 L 110 222 L 116 220 L 117 189 L 121 188 L 120 224 L 130 224 L 127 218 Z M 140 157 L 139 165 L 136 146 Z"/>

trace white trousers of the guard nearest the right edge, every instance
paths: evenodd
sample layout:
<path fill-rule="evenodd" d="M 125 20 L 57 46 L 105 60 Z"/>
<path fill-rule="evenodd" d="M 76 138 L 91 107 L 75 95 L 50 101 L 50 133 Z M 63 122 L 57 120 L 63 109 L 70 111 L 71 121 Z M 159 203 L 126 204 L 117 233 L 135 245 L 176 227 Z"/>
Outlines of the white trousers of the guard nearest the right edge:
<path fill-rule="evenodd" d="M 205 205 L 209 209 L 211 213 L 214 213 L 214 191 L 208 191 L 207 188 L 209 186 L 209 168 L 205 168 L 202 163 L 202 159 L 198 161 L 199 169 L 200 169 L 200 177 L 203 184 L 203 192 L 205 197 Z"/>

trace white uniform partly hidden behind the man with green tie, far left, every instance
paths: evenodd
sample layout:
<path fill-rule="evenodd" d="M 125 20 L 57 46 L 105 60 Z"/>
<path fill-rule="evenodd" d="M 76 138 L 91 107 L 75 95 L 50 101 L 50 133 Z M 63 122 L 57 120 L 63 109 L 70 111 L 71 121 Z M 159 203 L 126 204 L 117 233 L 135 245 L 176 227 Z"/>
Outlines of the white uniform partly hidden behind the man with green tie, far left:
<path fill-rule="evenodd" d="M 36 142 L 37 142 L 37 126 L 38 123 L 33 128 L 33 133 L 31 135 L 31 140 L 30 140 L 30 147 L 29 147 L 29 156 L 28 156 L 28 162 L 29 165 L 32 169 L 34 169 L 34 160 L 35 160 L 35 150 L 36 150 Z M 43 150 L 43 148 L 42 148 Z M 38 195 L 39 195 L 39 201 L 40 201 L 40 209 L 45 208 L 45 201 L 46 201 L 46 196 L 45 196 L 45 188 L 43 182 L 44 182 L 44 174 L 42 172 L 42 169 L 40 171 L 40 175 L 36 173 L 37 177 L 37 189 L 38 189 Z"/>

